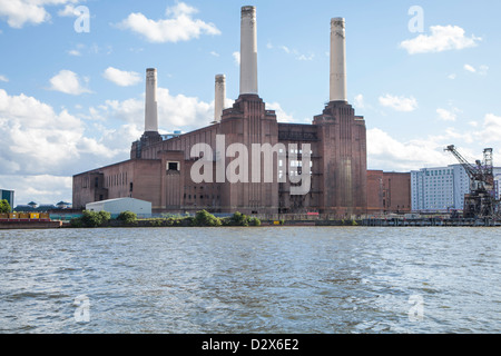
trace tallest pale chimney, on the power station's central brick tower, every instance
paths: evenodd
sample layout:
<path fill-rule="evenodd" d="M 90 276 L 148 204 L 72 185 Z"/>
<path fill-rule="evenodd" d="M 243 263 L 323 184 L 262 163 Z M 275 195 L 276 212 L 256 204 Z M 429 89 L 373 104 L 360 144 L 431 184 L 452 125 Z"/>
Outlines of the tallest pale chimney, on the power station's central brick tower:
<path fill-rule="evenodd" d="M 240 95 L 257 95 L 257 26 L 256 8 L 242 8 L 240 26 Z"/>

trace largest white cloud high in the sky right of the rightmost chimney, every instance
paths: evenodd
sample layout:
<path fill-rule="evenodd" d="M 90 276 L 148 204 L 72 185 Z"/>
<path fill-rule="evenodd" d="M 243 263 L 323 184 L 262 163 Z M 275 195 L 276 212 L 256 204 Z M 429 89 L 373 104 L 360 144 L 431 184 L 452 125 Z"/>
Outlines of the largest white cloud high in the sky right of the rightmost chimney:
<path fill-rule="evenodd" d="M 400 47 L 410 55 L 416 55 L 471 48 L 482 40 L 475 36 L 466 37 L 465 31 L 458 26 L 432 26 L 430 30 L 431 34 L 402 41 Z"/>

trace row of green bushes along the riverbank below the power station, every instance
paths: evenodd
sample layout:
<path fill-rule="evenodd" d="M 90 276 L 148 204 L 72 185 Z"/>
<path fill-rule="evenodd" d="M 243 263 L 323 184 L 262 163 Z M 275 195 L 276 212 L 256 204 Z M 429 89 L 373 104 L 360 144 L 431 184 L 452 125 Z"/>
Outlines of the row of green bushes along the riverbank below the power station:
<path fill-rule="evenodd" d="M 232 217 L 218 218 L 206 210 L 198 211 L 195 216 L 177 216 L 156 219 L 138 219 L 131 211 L 121 212 L 116 219 L 107 211 L 88 211 L 79 218 L 71 220 L 71 228 L 98 228 L 98 227 L 223 227 L 223 226 L 261 226 L 261 220 L 235 212 Z"/>

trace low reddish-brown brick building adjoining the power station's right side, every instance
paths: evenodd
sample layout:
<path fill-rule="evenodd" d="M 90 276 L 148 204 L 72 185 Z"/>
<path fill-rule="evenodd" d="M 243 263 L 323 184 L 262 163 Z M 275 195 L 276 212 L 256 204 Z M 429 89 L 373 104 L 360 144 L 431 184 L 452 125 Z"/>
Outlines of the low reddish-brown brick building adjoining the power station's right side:
<path fill-rule="evenodd" d="M 411 209 L 411 174 L 367 170 L 367 214 L 406 214 Z"/>

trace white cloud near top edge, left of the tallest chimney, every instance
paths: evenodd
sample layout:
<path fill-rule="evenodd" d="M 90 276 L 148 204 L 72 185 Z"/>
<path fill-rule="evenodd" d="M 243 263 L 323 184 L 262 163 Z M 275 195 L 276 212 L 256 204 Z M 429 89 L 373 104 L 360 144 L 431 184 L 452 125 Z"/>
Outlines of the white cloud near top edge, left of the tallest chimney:
<path fill-rule="evenodd" d="M 193 19 L 191 14 L 198 12 L 197 9 L 184 2 L 175 7 L 167 8 L 168 19 L 151 20 L 143 13 L 130 13 L 127 19 L 118 23 L 118 28 L 128 29 L 144 36 L 150 42 L 165 43 L 188 41 L 199 38 L 200 34 L 220 34 L 214 23 L 206 23 L 199 19 Z"/>

